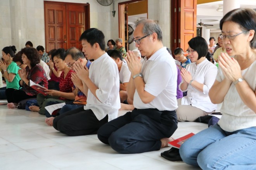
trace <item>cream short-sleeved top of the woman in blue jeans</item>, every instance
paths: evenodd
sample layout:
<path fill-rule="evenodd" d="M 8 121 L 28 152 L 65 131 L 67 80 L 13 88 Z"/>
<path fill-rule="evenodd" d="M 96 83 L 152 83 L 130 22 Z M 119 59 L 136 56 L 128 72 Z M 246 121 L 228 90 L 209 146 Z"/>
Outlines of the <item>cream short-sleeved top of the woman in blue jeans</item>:
<path fill-rule="evenodd" d="M 241 71 L 244 81 L 248 83 L 250 88 L 255 93 L 256 90 L 256 61 L 248 68 Z M 225 76 L 221 68 L 218 69 L 216 80 L 222 82 Z M 221 119 L 218 122 L 220 127 L 228 132 L 237 131 L 240 129 L 251 128 L 256 126 L 256 114 L 247 105 L 244 104 L 238 94 L 234 83 L 231 83 L 227 94 L 224 97 L 220 112 Z"/>

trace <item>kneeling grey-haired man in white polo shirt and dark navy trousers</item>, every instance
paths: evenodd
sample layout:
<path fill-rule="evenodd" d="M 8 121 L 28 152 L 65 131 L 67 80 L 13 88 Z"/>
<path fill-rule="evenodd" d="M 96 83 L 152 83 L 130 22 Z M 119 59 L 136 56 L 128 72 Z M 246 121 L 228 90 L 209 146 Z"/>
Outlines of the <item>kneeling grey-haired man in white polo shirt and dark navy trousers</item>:
<path fill-rule="evenodd" d="M 129 51 L 125 58 L 132 77 L 127 87 L 128 98 L 134 99 L 136 109 L 104 124 L 98 131 L 99 140 L 119 153 L 143 153 L 168 146 L 178 123 L 177 69 L 163 46 L 160 26 L 153 20 L 139 20 L 133 34 L 136 47 L 145 56 L 140 62 Z"/>

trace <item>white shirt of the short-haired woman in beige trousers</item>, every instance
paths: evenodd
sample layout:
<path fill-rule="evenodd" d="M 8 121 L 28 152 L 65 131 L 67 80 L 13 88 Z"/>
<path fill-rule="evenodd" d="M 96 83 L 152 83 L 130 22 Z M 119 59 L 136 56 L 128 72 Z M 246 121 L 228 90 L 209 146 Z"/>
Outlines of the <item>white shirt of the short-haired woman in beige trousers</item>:
<path fill-rule="evenodd" d="M 186 69 L 191 73 L 192 80 L 202 83 L 204 86 L 203 92 L 200 92 L 189 84 L 187 89 L 184 90 L 187 91 L 187 96 L 182 97 L 182 105 L 191 104 L 192 106 L 204 110 L 205 112 L 212 112 L 213 110 L 216 110 L 217 105 L 211 102 L 208 93 L 210 88 L 213 86 L 218 68 L 207 59 L 204 59 L 204 61 L 198 65 L 196 65 L 195 62 L 187 65 Z M 183 81 L 180 83 L 180 85 L 182 83 Z"/>

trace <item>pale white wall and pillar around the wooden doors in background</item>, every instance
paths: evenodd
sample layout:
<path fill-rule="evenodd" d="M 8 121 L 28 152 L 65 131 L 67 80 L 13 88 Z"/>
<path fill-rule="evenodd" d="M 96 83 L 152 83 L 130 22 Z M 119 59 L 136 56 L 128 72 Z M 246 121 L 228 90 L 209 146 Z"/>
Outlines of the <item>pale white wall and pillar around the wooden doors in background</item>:
<path fill-rule="evenodd" d="M 118 38 L 118 3 L 102 6 L 96 0 L 52 0 L 55 2 L 90 3 L 90 27 L 100 29 L 105 40 Z M 17 50 L 31 41 L 34 47 L 45 46 L 43 0 L 0 0 L 0 49 L 15 45 Z M 170 47 L 170 1 L 148 0 L 148 18 L 158 20 L 163 31 L 163 44 Z"/>

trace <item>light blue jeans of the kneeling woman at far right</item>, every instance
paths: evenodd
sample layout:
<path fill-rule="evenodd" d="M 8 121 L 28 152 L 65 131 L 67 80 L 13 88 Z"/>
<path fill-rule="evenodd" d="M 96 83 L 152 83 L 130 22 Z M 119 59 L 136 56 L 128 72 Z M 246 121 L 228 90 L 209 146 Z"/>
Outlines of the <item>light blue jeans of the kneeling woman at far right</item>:
<path fill-rule="evenodd" d="M 203 170 L 255 170 L 256 127 L 227 132 L 210 126 L 180 147 L 182 160 Z"/>

